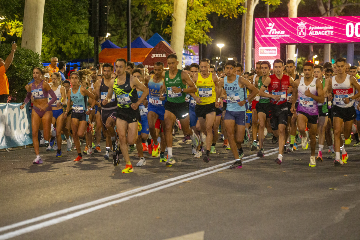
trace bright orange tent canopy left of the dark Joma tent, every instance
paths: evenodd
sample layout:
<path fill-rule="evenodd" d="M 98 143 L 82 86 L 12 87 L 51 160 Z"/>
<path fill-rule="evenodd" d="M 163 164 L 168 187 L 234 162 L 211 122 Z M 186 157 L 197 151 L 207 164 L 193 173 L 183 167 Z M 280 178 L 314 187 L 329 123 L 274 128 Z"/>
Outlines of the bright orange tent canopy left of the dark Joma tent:
<path fill-rule="evenodd" d="M 152 48 L 132 48 L 131 62 L 143 62 Z M 127 48 L 105 48 L 99 53 L 99 62 L 114 63 L 118 58 L 127 59 Z"/>

